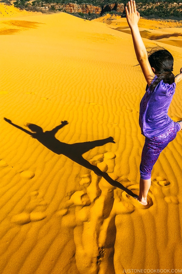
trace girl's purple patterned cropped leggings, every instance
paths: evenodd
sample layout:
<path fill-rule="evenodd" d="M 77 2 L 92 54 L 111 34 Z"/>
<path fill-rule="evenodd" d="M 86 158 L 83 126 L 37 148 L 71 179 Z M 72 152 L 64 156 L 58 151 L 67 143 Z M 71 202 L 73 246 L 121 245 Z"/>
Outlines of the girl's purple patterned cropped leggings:
<path fill-rule="evenodd" d="M 145 144 L 142 150 L 142 159 L 140 163 L 141 179 L 150 179 L 153 165 L 156 163 L 161 151 L 171 142 L 180 130 L 180 125 L 174 122 L 174 125 L 163 134 L 151 138 L 145 137 Z"/>

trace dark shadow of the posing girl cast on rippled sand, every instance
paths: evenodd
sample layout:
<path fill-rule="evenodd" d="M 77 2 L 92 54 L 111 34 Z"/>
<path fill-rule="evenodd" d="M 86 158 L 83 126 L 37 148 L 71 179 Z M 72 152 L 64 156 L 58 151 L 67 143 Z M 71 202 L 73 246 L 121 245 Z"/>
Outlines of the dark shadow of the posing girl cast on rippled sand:
<path fill-rule="evenodd" d="M 78 163 L 79 165 L 86 167 L 90 170 L 93 170 L 95 174 L 98 176 L 102 176 L 108 183 L 113 185 L 114 187 L 120 188 L 130 196 L 136 196 L 131 190 L 125 188 L 122 184 L 117 181 L 114 181 L 106 172 L 102 172 L 98 167 L 93 166 L 86 159 L 83 158 L 82 154 L 86 153 L 90 149 L 95 148 L 96 146 L 103 146 L 107 143 L 115 143 L 113 137 L 108 137 L 106 139 L 95 140 L 91 142 L 82 142 L 82 143 L 74 143 L 74 144 L 66 144 L 60 142 L 56 139 L 55 134 L 59 129 L 63 128 L 68 124 L 67 121 L 62 121 L 60 125 L 53 128 L 50 131 L 43 131 L 43 129 L 35 124 L 27 124 L 27 127 L 31 130 L 31 132 L 25 128 L 20 127 L 12 123 L 11 120 L 4 118 L 6 122 L 10 125 L 13 125 L 15 128 L 21 129 L 23 132 L 29 134 L 34 139 L 37 139 L 42 145 L 50 149 L 52 152 L 60 155 L 63 154 L 72 161 Z"/>

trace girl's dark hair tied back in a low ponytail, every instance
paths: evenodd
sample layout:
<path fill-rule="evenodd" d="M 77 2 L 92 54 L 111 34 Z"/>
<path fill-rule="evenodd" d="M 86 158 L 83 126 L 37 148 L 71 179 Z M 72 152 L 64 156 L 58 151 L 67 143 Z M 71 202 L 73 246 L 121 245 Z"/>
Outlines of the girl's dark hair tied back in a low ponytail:
<path fill-rule="evenodd" d="M 165 84 L 171 85 L 174 83 L 173 63 L 174 59 L 172 54 L 163 47 L 155 47 L 148 52 L 148 60 L 151 68 L 155 68 L 157 78 L 150 84 L 150 91 L 153 92 L 155 87 L 161 80 Z"/>

